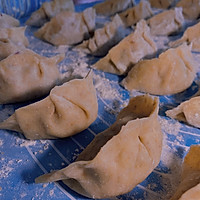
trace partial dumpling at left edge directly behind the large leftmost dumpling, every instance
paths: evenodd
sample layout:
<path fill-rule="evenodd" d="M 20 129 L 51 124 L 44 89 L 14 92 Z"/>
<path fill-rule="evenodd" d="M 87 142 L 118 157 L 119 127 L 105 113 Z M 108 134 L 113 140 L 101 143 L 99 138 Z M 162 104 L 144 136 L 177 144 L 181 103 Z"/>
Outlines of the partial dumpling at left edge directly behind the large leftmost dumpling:
<path fill-rule="evenodd" d="M 24 45 L 17 45 L 9 39 L 0 38 L 0 60 L 8 57 L 10 54 L 24 50 Z"/>

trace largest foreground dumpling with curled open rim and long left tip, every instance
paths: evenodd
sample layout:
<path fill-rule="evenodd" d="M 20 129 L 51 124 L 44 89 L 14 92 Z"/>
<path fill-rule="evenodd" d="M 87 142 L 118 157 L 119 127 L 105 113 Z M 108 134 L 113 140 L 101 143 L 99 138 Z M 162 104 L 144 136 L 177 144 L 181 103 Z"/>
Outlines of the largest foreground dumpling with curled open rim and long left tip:
<path fill-rule="evenodd" d="M 158 99 L 138 96 L 130 100 L 116 122 L 98 134 L 77 161 L 45 174 L 36 183 L 62 180 L 90 198 L 110 198 L 131 191 L 158 165 L 162 132 Z"/>

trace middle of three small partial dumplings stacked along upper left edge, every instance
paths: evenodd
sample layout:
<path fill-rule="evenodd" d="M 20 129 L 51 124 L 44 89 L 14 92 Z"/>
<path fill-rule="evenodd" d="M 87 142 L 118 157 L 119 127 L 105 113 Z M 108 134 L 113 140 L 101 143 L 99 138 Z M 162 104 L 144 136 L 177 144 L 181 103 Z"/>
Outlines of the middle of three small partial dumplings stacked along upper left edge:
<path fill-rule="evenodd" d="M 16 45 L 23 45 L 27 47 L 29 45 L 28 39 L 25 36 L 26 27 L 11 27 L 11 28 L 1 28 L 0 38 L 9 39 Z"/>

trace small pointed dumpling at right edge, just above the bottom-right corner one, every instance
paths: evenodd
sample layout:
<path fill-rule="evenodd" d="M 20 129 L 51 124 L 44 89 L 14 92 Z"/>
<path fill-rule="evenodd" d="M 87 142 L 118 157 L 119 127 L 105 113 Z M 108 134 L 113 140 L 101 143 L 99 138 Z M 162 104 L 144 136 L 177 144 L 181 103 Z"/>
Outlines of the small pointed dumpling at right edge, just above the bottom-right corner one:
<path fill-rule="evenodd" d="M 178 107 L 166 111 L 167 116 L 200 128 L 200 97 L 193 97 Z"/>

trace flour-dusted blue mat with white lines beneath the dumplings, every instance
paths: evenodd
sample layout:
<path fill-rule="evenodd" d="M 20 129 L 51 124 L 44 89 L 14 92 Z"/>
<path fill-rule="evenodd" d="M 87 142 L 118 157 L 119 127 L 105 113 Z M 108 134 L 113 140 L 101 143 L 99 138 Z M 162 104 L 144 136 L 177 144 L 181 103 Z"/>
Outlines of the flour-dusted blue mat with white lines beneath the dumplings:
<path fill-rule="evenodd" d="M 7 1 L 8 2 L 8 1 Z M 82 8 L 77 8 L 82 9 Z M 24 19 L 21 20 L 23 25 Z M 51 56 L 64 52 L 66 58 L 59 64 L 60 71 L 67 77 L 85 77 L 90 64 L 97 58 L 68 46 L 54 47 L 33 36 L 33 28 L 27 27 L 29 48 Z M 167 38 L 155 38 L 162 46 Z M 194 53 L 200 63 L 200 55 Z M 165 111 L 191 98 L 199 89 L 197 78 L 186 91 L 160 96 L 159 120 L 164 141 L 159 165 L 130 193 L 115 199 L 123 200 L 167 200 L 173 194 L 180 174 L 183 157 L 192 144 L 200 143 L 200 130 L 176 120 L 169 119 Z M 62 182 L 35 184 L 36 177 L 66 167 L 91 142 L 94 136 L 107 129 L 116 119 L 118 112 L 127 105 L 131 96 L 141 93 L 127 92 L 119 85 L 121 77 L 94 70 L 94 85 L 98 95 L 99 111 L 96 121 L 85 131 L 66 139 L 30 141 L 13 131 L 0 130 L 0 199 L 2 200 L 83 200 L 83 197 Z M 8 118 L 14 110 L 27 105 L 0 105 L 0 121 Z"/>

